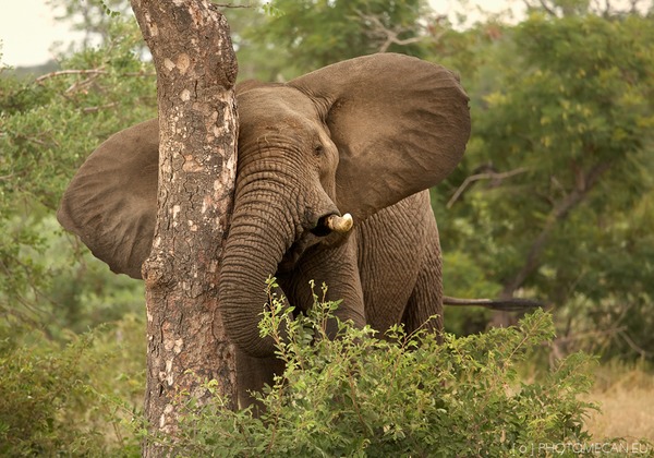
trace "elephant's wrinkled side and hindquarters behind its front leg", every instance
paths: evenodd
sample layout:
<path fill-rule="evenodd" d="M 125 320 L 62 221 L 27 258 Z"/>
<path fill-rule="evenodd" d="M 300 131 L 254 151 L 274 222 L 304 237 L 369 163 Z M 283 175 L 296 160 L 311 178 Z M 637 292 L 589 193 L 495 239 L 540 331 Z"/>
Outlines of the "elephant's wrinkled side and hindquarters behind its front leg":
<path fill-rule="evenodd" d="M 443 263 L 428 191 L 370 217 L 358 245 L 366 323 L 380 332 L 397 323 L 409 333 L 443 330 Z"/>

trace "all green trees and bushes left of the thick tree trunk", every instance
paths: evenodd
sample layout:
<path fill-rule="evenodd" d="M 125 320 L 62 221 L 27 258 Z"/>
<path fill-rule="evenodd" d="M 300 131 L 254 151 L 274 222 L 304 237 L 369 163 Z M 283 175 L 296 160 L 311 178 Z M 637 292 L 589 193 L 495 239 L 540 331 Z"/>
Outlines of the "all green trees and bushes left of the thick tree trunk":
<path fill-rule="evenodd" d="M 138 451 L 142 282 L 111 274 L 55 212 L 90 150 L 155 116 L 141 43 L 117 20 L 105 47 L 62 58 L 58 72 L 0 70 L 0 455 Z"/>

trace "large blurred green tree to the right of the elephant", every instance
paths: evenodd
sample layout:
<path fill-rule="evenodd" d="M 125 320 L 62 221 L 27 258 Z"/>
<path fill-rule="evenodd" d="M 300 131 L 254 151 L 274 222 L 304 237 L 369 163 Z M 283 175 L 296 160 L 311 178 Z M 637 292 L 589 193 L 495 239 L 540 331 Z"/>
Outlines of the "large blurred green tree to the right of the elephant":
<path fill-rule="evenodd" d="M 607 357 L 653 358 L 641 311 L 654 298 L 654 23 L 533 14 L 480 32 L 477 65 L 462 68 L 473 135 L 435 205 L 444 253 L 504 293 L 552 302 L 564 333 L 606 336 Z"/>

